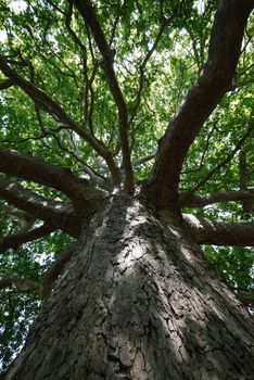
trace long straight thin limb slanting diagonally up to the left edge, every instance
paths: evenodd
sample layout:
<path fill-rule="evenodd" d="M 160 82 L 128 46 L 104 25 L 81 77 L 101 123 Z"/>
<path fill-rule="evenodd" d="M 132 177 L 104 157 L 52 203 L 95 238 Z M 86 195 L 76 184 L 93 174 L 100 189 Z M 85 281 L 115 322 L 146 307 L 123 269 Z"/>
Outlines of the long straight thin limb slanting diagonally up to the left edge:
<path fill-rule="evenodd" d="M 105 145 L 94 139 L 89 132 L 82 129 L 75 121 L 73 121 L 62 109 L 62 106 L 51 99 L 45 91 L 33 85 L 29 80 L 23 78 L 15 69 L 13 69 L 4 59 L 0 55 L 0 69 L 9 77 L 15 85 L 22 88 L 36 104 L 40 105 L 42 110 L 48 112 L 50 115 L 54 115 L 61 123 L 68 126 L 69 129 L 74 130 L 85 141 L 87 141 L 94 151 L 102 156 L 109 165 L 112 177 L 115 182 L 119 182 L 120 173 L 117 168 L 113 155 L 105 149 Z"/>

